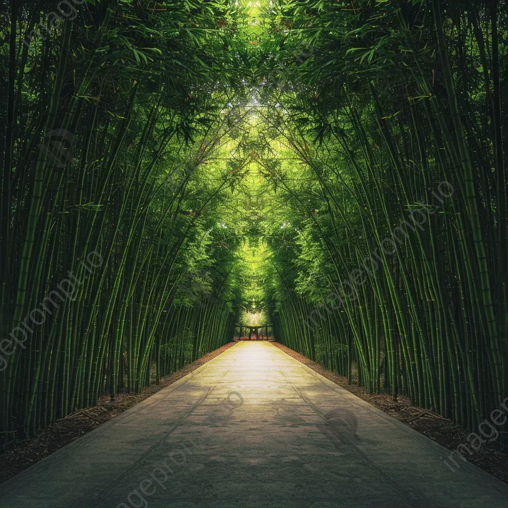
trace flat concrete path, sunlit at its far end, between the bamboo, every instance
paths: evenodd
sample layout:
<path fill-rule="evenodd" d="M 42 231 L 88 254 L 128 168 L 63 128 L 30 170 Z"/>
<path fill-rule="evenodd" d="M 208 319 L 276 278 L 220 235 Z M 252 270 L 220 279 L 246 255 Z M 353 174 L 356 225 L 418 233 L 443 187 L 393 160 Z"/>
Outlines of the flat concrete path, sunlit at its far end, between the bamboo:
<path fill-rule="evenodd" d="M 506 508 L 508 486 L 445 455 L 272 344 L 239 342 L 0 486 L 0 505 Z"/>

